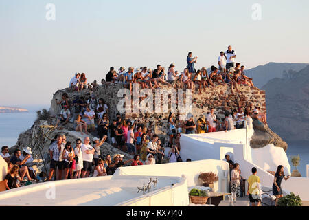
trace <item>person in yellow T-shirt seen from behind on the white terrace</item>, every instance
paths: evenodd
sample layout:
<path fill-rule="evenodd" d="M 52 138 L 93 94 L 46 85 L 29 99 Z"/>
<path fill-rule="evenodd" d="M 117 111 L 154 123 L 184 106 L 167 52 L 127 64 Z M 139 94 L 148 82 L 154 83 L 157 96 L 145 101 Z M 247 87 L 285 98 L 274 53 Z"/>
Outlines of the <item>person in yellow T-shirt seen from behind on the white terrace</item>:
<path fill-rule="evenodd" d="M 259 190 L 259 184 L 260 184 L 260 177 L 258 177 L 256 174 L 258 173 L 258 170 L 253 167 L 252 168 L 252 175 L 248 178 L 248 192 L 249 199 L 251 202 L 251 206 L 260 206 L 261 204 L 261 198 L 260 198 L 260 190 Z"/>

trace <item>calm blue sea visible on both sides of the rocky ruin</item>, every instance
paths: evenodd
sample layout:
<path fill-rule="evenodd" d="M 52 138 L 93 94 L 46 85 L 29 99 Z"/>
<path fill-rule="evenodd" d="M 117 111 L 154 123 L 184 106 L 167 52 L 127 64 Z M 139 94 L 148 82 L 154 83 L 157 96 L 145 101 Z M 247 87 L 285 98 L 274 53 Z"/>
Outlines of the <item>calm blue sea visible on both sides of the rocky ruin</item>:
<path fill-rule="evenodd" d="M 19 134 L 27 129 L 30 129 L 34 120 L 36 120 L 36 111 L 49 109 L 48 105 L 31 105 L 19 106 L 28 109 L 28 112 L 23 113 L 0 113 L 0 147 L 14 146 L 17 142 Z M 282 137 L 284 139 L 284 137 Z M 291 165 L 291 170 L 295 169 L 291 163 L 291 156 L 300 157 L 300 164 L 297 168 L 302 177 L 306 177 L 306 164 L 309 164 L 309 142 L 297 141 L 288 142 L 288 161 Z"/>

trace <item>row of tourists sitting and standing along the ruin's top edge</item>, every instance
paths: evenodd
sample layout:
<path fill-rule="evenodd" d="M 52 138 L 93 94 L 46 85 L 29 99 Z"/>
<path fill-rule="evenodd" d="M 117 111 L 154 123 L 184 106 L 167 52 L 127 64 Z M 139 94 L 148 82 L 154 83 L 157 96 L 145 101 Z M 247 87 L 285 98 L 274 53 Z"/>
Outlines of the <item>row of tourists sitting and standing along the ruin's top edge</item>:
<path fill-rule="evenodd" d="M 211 65 L 208 74 L 205 67 L 196 70 L 194 64 L 197 62 L 197 56 L 193 56 L 192 52 L 189 52 L 187 55 L 187 67 L 180 74 L 175 69 L 174 63 L 170 64 L 167 72 L 165 72 L 165 67 L 159 64 L 153 70 L 148 67 L 128 67 L 126 71 L 124 67 L 120 67 L 117 72 L 114 67 L 111 67 L 106 74 L 106 78 L 102 79 L 101 83 L 124 83 L 128 85 L 132 92 L 133 83 L 138 83 L 143 89 L 156 89 L 160 88 L 161 84 L 169 85 L 179 81 L 187 89 L 195 89 L 197 86 L 199 94 L 202 94 L 202 89 L 205 91 L 206 87 L 216 87 L 216 83 L 218 83 L 218 85 L 229 85 L 233 94 L 233 89 L 239 92 L 239 84 L 254 87 L 252 78 L 244 74 L 244 65 L 240 66 L 240 63 L 236 63 L 235 58 L 236 52 L 229 45 L 227 51 L 220 52 L 218 67 Z M 97 85 L 96 80 L 91 84 L 87 83 L 84 73 L 76 73 L 69 83 L 69 88 L 76 91 L 92 90 Z"/>

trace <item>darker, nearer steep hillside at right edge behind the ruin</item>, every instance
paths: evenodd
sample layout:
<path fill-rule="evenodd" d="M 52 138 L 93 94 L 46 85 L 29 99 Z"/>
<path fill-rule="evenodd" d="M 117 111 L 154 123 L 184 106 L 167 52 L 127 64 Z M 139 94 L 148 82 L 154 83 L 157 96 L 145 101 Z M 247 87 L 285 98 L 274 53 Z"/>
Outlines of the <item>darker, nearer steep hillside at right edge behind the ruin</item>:
<path fill-rule="evenodd" d="M 284 140 L 309 141 L 309 65 L 286 79 L 269 80 L 262 89 L 271 129 Z"/>

